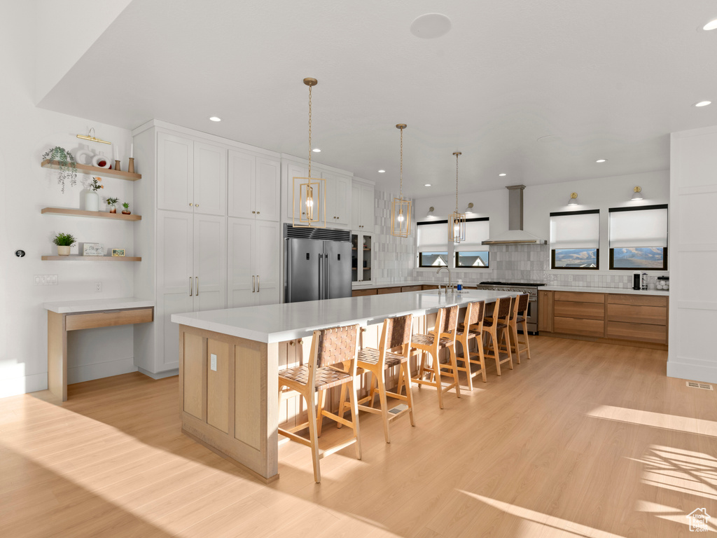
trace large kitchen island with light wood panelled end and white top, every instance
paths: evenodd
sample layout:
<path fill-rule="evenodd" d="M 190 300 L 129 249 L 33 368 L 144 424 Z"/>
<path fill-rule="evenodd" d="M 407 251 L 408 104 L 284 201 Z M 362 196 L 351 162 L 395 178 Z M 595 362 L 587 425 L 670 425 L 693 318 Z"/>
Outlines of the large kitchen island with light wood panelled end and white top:
<path fill-rule="evenodd" d="M 495 302 L 500 291 L 305 301 L 173 314 L 179 324 L 182 431 L 265 481 L 278 478 L 280 366 L 305 359 L 316 329 L 376 326 L 392 316 L 425 316 L 446 306 Z M 414 324 L 414 331 L 417 324 Z"/>

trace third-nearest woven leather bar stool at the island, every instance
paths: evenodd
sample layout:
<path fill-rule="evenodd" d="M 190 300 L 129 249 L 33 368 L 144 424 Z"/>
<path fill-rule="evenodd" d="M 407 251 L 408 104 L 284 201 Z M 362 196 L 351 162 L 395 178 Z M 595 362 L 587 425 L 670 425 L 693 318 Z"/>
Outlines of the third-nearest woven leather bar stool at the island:
<path fill-rule="evenodd" d="M 455 335 L 458 326 L 458 306 L 441 308 L 436 314 L 435 328 L 429 334 L 414 334 L 411 338 L 412 352 L 421 352 L 421 365 L 417 377 L 412 382 L 427 384 L 436 387 L 438 393 L 438 407 L 443 409 L 443 393 L 455 387 L 455 395 L 460 398 L 460 384 L 458 383 L 458 363 L 455 357 Z M 441 364 L 438 358 L 438 351 L 447 348 L 450 352 L 450 364 Z M 433 357 L 432 366 L 426 364 L 426 355 Z M 441 369 L 450 368 L 453 382 L 443 386 L 441 381 Z M 424 379 L 424 374 L 429 373 L 429 378 Z M 443 372 L 447 373 L 447 372 Z M 399 385 L 399 392 L 401 387 Z"/>

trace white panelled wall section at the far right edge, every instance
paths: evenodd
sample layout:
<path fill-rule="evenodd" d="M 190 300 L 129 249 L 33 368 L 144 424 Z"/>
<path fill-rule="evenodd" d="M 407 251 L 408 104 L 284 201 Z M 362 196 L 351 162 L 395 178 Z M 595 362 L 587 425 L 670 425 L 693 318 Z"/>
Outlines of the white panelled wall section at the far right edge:
<path fill-rule="evenodd" d="M 670 152 L 668 376 L 717 383 L 717 126 L 673 133 Z"/>

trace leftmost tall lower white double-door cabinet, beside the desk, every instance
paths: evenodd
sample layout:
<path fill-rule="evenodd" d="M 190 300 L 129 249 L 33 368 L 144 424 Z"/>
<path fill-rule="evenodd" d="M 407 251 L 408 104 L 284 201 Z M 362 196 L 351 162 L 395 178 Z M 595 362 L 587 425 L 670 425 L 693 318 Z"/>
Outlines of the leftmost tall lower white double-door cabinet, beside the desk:
<path fill-rule="evenodd" d="M 225 308 L 226 217 L 158 211 L 156 323 L 161 370 L 179 367 L 171 314 Z"/>

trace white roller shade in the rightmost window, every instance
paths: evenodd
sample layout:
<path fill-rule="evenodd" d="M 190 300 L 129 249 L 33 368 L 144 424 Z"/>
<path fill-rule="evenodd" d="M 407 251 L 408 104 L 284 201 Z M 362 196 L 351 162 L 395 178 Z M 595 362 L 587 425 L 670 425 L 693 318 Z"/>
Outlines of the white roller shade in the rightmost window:
<path fill-rule="evenodd" d="M 667 247 L 668 207 L 610 209 L 610 248 Z"/>

